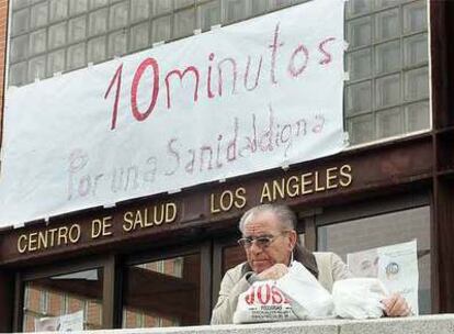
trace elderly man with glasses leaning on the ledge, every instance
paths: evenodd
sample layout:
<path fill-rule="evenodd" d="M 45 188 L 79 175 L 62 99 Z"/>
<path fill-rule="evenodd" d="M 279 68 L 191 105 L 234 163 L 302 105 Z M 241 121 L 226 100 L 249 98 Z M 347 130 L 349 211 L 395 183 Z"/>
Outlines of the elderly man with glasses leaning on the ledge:
<path fill-rule="evenodd" d="M 232 323 L 240 293 L 257 280 L 279 279 L 288 271 L 292 258 L 300 261 L 318 281 L 331 291 L 336 280 L 351 277 L 347 265 L 333 253 L 310 253 L 298 245 L 295 214 L 284 205 L 263 204 L 247 211 L 240 222 L 248 261 L 228 270 L 220 283 L 212 324 Z M 410 308 L 399 294 L 382 301 L 388 316 L 406 316 Z"/>

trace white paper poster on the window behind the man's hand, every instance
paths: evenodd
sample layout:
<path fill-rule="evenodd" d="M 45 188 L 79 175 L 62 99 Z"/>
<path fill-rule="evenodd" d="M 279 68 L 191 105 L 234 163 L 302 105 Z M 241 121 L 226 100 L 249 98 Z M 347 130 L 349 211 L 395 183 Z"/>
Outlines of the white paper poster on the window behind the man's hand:
<path fill-rule="evenodd" d="M 357 277 L 378 278 L 390 293 L 405 297 L 415 314 L 419 314 L 419 270 L 417 241 L 389 245 L 347 255 L 347 263 Z"/>

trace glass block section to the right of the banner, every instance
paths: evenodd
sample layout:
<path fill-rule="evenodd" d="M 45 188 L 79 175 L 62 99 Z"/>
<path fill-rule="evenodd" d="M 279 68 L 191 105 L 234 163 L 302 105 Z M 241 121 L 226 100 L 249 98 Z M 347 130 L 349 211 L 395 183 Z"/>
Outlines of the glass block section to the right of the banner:
<path fill-rule="evenodd" d="M 344 119 L 352 145 L 430 129 L 427 5 L 347 2 Z"/>

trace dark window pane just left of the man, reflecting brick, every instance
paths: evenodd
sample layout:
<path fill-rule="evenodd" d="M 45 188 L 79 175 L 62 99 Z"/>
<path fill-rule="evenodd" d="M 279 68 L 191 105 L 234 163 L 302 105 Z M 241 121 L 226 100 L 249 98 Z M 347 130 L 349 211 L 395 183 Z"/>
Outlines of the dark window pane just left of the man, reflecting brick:
<path fill-rule="evenodd" d="M 198 254 L 128 266 L 122 327 L 196 325 L 200 289 Z"/>

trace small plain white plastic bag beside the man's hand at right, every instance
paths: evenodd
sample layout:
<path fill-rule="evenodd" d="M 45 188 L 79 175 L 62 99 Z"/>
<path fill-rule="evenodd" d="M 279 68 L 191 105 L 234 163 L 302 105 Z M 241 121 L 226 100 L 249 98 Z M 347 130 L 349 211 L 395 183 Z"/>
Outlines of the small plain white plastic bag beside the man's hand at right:
<path fill-rule="evenodd" d="M 388 296 L 385 286 L 376 278 L 348 278 L 332 286 L 334 313 L 347 319 L 381 318 L 381 301 Z"/>

